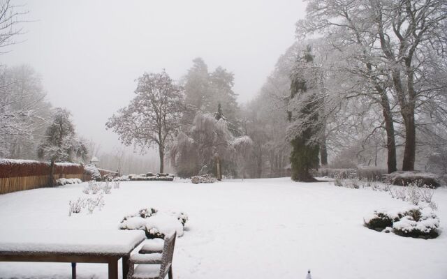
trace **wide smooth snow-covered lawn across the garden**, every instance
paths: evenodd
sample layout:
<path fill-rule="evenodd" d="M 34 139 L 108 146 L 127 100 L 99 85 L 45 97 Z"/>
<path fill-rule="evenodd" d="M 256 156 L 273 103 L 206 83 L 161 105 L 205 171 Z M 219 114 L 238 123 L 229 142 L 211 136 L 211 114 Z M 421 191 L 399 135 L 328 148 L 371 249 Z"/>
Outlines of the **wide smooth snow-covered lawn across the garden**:
<path fill-rule="evenodd" d="M 434 194 L 441 219 L 437 239 L 409 239 L 363 227 L 363 217 L 405 202 L 388 193 L 331 183 L 247 179 L 193 185 L 129 181 L 104 195 L 105 206 L 68 217 L 68 201 L 85 183 L 0 195 L 0 236 L 21 229 L 115 231 L 145 207 L 184 211 L 175 278 L 447 278 L 447 189 Z M 1 239 L 0 239 L 1 242 Z M 1 248 L 0 248 L 1 250 Z M 0 262 L 0 278 L 70 278 L 70 264 Z M 78 264 L 78 278 L 107 278 L 105 264 Z"/>

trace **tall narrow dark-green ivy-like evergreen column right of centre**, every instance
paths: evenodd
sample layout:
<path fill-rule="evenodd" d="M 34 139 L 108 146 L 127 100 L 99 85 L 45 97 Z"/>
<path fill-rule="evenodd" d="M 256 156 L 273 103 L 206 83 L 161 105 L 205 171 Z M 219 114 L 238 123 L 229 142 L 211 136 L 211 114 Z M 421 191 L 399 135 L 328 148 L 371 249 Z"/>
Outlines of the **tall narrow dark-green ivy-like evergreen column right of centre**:
<path fill-rule="evenodd" d="M 321 94 L 318 92 L 318 70 L 312 66 L 314 56 L 307 46 L 305 54 L 297 59 L 291 74 L 291 96 L 288 102 L 287 138 L 292 145 L 291 170 L 294 181 L 316 181 L 311 169 L 318 168 L 321 123 Z"/>

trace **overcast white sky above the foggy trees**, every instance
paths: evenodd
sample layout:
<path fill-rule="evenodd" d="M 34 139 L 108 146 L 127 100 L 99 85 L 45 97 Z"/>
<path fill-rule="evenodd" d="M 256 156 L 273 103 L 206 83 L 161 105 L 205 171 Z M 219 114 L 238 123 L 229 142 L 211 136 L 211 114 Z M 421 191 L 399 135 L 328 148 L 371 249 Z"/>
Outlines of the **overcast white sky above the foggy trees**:
<path fill-rule="evenodd" d="M 135 79 L 166 68 L 179 80 L 192 59 L 235 74 L 243 103 L 253 98 L 288 46 L 301 0 L 26 1 L 24 43 L 2 55 L 29 64 L 43 78 L 47 99 L 73 114 L 78 133 L 119 144 L 105 122 L 133 98 Z"/>

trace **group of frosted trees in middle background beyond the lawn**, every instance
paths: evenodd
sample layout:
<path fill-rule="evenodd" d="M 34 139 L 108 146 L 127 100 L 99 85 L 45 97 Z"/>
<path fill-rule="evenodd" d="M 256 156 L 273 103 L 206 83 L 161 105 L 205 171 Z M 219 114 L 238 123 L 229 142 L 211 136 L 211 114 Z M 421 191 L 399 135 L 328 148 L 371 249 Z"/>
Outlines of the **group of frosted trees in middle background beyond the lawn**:
<path fill-rule="evenodd" d="M 221 179 L 237 175 L 238 166 L 244 169 L 238 155 L 248 152 L 251 140 L 240 130 L 232 73 L 221 67 L 209 73 L 198 58 L 182 86 L 164 70 L 144 73 L 137 83 L 133 100 L 105 124 L 124 144 L 142 151 L 155 146 L 160 172 L 169 152 L 183 177 L 210 169 Z"/>

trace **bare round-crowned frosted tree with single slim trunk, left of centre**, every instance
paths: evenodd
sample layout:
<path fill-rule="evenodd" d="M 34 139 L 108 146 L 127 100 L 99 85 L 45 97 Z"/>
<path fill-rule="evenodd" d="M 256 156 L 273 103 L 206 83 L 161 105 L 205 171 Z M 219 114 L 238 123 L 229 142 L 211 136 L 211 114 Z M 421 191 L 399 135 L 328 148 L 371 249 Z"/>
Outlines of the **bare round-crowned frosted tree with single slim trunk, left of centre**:
<path fill-rule="evenodd" d="M 110 117 L 105 126 L 119 135 L 126 145 L 159 149 L 160 172 L 168 144 L 175 137 L 182 117 L 182 89 L 163 70 L 138 78 L 135 98 Z"/>

